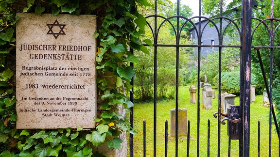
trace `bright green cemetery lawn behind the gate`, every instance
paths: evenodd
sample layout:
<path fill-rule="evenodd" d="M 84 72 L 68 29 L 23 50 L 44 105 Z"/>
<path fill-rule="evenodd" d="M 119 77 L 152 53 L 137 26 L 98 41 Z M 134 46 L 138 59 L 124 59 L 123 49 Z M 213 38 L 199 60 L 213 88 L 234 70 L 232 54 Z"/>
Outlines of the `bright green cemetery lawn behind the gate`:
<path fill-rule="evenodd" d="M 191 121 L 190 157 L 196 157 L 197 147 L 197 105 L 191 104 L 188 87 L 179 88 L 179 108 L 188 110 L 188 119 Z M 216 94 L 218 92 L 216 91 Z M 239 97 L 235 97 L 235 105 L 239 104 Z M 164 157 L 164 126 L 168 121 L 168 133 L 170 134 L 170 110 L 175 108 L 175 100 L 160 101 L 157 103 L 157 157 Z M 218 111 L 218 98 L 212 99 L 212 109 L 202 109 L 200 105 L 200 149 L 201 157 L 207 156 L 207 124 L 210 120 L 210 156 L 217 156 L 217 132 L 218 118 L 213 113 Z M 134 136 L 134 156 L 143 157 L 143 120 L 146 121 L 146 156 L 152 157 L 154 152 L 154 104 L 135 103 L 134 105 L 134 129 L 138 132 Z M 262 106 L 262 95 L 256 95 L 255 102 L 251 103 L 250 116 L 250 156 L 258 156 L 258 121 L 261 122 L 261 157 L 268 156 L 269 149 L 269 108 Z M 227 122 L 226 122 L 227 123 Z M 278 156 L 278 137 L 272 126 L 272 157 Z M 187 152 L 187 139 L 180 137 L 178 142 L 178 156 L 185 157 Z M 231 157 L 238 157 L 238 140 L 231 140 Z M 227 125 L 221 125 L 221 157 L 227 157 L 228 136 Z M 168 157 L 175 156 L 175 140 L 169 138 Z"/>

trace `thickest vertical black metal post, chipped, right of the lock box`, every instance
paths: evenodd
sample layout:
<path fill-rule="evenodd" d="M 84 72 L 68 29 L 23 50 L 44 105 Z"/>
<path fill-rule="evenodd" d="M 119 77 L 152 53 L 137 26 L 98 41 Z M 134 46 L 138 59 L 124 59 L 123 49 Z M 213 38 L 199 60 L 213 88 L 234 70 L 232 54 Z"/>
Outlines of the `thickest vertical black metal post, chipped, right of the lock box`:
<path fill-rule="evenodd" d="M 240 106 L 242 112 L 239 156 L 249 157 L 250 148 L 250 85 L 251 85 L 251 47 L 252 47 L 252 1 L 242 0 L 241 56 L 240 56 Z"/>

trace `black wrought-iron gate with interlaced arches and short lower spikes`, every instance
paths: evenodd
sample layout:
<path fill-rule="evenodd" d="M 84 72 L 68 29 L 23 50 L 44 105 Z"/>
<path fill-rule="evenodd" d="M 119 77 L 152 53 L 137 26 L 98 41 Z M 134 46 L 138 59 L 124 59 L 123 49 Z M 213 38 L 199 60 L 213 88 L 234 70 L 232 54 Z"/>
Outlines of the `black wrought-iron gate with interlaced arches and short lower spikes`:
<path fill-rule="evenodd" d="M 194 16 L 191 18 L 186 18 L 184 16 L 180 16 L 180 10 L 179 10 L 179 4 L 180 4 L 180 0 L 177 0 L 177 15 L 176 16 L 172 16 L 172 17 L 162 17 L 162 16 L 158 16 L 157 15 L 157 0 L 155 0 L 155 15 L 153 16 L 147 16 L 146 18 L 154 18 L 154 23 L 153 24 L 148 24 L 150 26 L 151 32 L 153 34 L 153 47 L 154 47 L 154 128 L 153 128 L 153 132 L 154 132 L 154 143 L 153 143 L 153 151 L 154 151 L 154 157 L 157 157 L 157 49 L 158 47 L 175 47 L 176 48 L 176 92 L 175 92 L 175 152 L 168 152 L 167 151 L 167 143 L 168 143 L 168 139 L 167 139 L 167 122 L 166 122 L 166 132 L 165 132 L 165 156 L 175 156 L 178 157 L 178 145 L 179 143 L 179 139 L 178 139 L 178 90 L 179 90 L 179 47 L 195 47 L 197 49 L 197 60 L 198 60 L 198 64 L 197 64 L 197 126 L 191 126 L 190 121 L 188 122 L 188 138 L 187 138 L 187 145 L 186 145 L 186 150 L 187 150 L 187 154 L 186 156 L 189 156 L 189 150 L 190 150 L 190 128 L 191 127 L 196 127 L 197 129 L 197 139 L 196 139 L 196 149 L 197 149 L 197 153 L 196 155 L 199 157 L 200 155 L 200 150 L 201 149 L 207 149 L 207 156 L 210 156 L 210 150 L 214 150 L 217 152 L 217 156 L 220 157 L 221 156 L 221 141 L 225 140 L 225 139 L 221 139 L 221 121 L 224 120 L 228 120 L 227 123 L 235 123 L 238 124 L 238 140 L 239 140 L 239 148 L 238 150 L 232 150 L 231 149 L 231 138 L 228 138 L 228 153 L 227 156 L 231 156 L 231 152 L 232 151 L 239 151 L 239 157 L 249 157 L 250 156 L 250 85 L 251 85 L 251 53 L 257 53 L 259 56 L 259 61 L 260 61 L 260 67 L 261 70 L 260 73 L 262 72 L 263 75 L 263 80 L 264 80 L 264 84 L 266 89 L 269 89 L 268 93 L 268 98 L 269 98 L 269 102 L 272 102 L 272 74 L 273 74 L 273 54 L 275 49 L 280 48 L 279 46 L 275 46 L 274 45 L 274 40 L 277 36 L 277 30 L 279 28 L 279 25 L 274 26 L 275 22 L 279 22 L 280 19 L 274 18 L 273 16 L 273 10 L 274 10 L 274 0 L 270 0 L 271 1 L 271 15 L 266 18 L 266 19 L 257 19 L 253 17 L 253 12 L 252 12 L 252 7 L 255 4 L 255 0 L 242 0 L 242 4 L 241 4 L 241 17 L 240 18 L 235 18 L 235 19 L 230 19 L 228 17 L 226 17 L 225 15 L 223 15 L 224 10 L 223 10 L 223 0 L 220 0 L 220 14 L 219 16 L 216 16 L 214 18 L 209 18 L 206 16 L 201 16 L 201 0 L 199 0 L 199 16 Z M 158 23 L 158 19 L 162 19 L 160 21 L 160 23 Z M 180 44 L 180 35 L 181 35 L 181 31 L 183 28 L 183 26 L 181 28 L 173 26 L 174 31 L 175 31 L 175 36 L 176 36 L 176 43 L 174 44 L 168 44 L 168 45 L 164 45 L 164 44 L 158 44 L 157 43 L 157 36 L 158 36 L 158 32 L 160 30 L 160 27 L 164 24 L 164 23 L 170 23 L 172 25 L 172 22 L 170 22 L 170 19 L 175 18 L 177 20 L 177 26 L 179 26 L 179 20 L 180 19 L 184 19 L 185 20 L 185 24 L 187 23 L 191 23 L 193 26 L 193 34 L 196 35 L 196 39 L 197 42 L 194 45 L 182 45 Z M 193 22 L 193 20 L 196 20 L 196 23 Z M 218 20 L 218 23 L 213 22 L 214 20 Z M 225 24 L 224 21 L 227 21 L 227 23 Z M 252 20 L 258 20 L 259 23 L 256 26 L 252 26 Z M 202 35 L 203 33 L 205 33 L 205 29 L 206 26 L 202 24 L 202 21 L 207 21 L 207 25 L 211 24 L 213 25 L 212 27 L 216 29 L 217 31 L 217 38 L 218 38 L 218 44 L 216 45 L 207 45 L 202 43 Z M 238 21 L 240 21 L 240 23 L 238 23 Z M 270 25 L 267 25 L 267 22 L 269 21 Z M 224 44 L 224 37 L 225 37 L 225 28 L 228 27 L 229 24 L 232 24 L 233 26 L 235 26 L 236 29 L 236 33 L 239 36 L 240 39 L 240 45 L 225 45 Z M 252 46 L 252 39 L 253 39 L 253 34 L 256 31 L 256 29 L 260 26 L 260 25 L 264 25 L 267 28 L 267 32 L 269 34 L 270 37 L 270 41 L 269 41 L 269 45 L 265 45 L 265 46 Z M 217 115 L 218 117 L 218 122 L 213 122 L 217 124 L 217 143 L 215 143 L 215 147 L 212 148 L 212 143 L 210 146 L 210 140 L 208 140 L 208 148 L 201 148 L 200 147 L 200 127 L 201 127 L 201 122 L 200 122 L 200 108 L 201 108 L 201 100 L 200 100 L 200 78 L 201 78 L 201 53 L 202 53 L 202 49 L 203 47 L 215 47 L 218 49 L 219 51 L 219 78 L 218 78 L 218 109 L 217 109 L 217 113 L 214 114 L 214 116 Z M 239 107 L 238 107 L 238 113 L 236 113 L 236 110 L 234 111 L 235 114 L 238 114 L 239 117 L 234 117 L 234 119 L 231 119 L 232 117 L 227 117 L 226 119 L 222 118 L 221 115 L 221 60 L 222 60 L 222 55 L 223 55 L 223 48 L 225 47 L 237 47 L 240 48 L 240 100 L 239 100 Z M 267 81 L 267 78 L 265 76 L 265 72 L 263 69 L 263 64 L 262 64 L 262 57 L 260 55 L 260 50 L 261 49 L 268 49 L 268 51 L 270 52 L 270 78 L 269 78 L 269 83 Z M 133 52 L 133 50 L 131 50 Z M 133 83 L 133 82 L 132 82 Z M 130 98 L 131 101 L 133 102 L 133 92 L 130 94 Z M 272 124 L 275 123 L 277 124 L 276 121 L 276 116 L 275 116 L 275 111 L 274 111 L 274 107 L 273 105 L 271 105 L 272 103 L 270 103 L 270 110 L 269 110 L 269 135 L 267 136 L 267 138 L 269 138 L 269 143 L 262 143 L 262 144 L 268 144 L 268 150 L 267 150 L 267 154 L 265 156 L 271 156 L 271 138 L 272 138 Z M 130 112 L 130 121 L 131 121 L 131 126 L 134 126 L 134 110 L 133 108 L 131 109 Z M 186 122 L 187 123 L 187 122 Z M 264 122 L 266 123 L 266 122 Z M 259 123 L 260 125 L 260 123 Z M 146 137 L 145 137 L 145 121 L 143 123 L 143 156 L 146 156 Z M 276 126 L 276 130 L 279 136 L 279 127 L 277 125 Z M 260 126 L 258 129 L 258 135 L 260 136 Z M 223 134 L 227 134 L 227 133 L 223 133 Z M 210 139 L 210 120 L 208 122 L 208 135 L 209 135 L 209 139 Z M 260 139 L 260 137 L 258 138 Z M 258 142 L 258 156 L 260 156 L 260 140 L 258 141 L 251 141 L 251 142 Z M 129 138 L 129 145 L 130 145 L 130 149 L 129 149 L 129 154 L 130 157 L 134 156 L 134 151 L 138 151 L 134 149 L 134 139 L 133 139 L 133 135 L 130 134 L 130 138 Z"/>

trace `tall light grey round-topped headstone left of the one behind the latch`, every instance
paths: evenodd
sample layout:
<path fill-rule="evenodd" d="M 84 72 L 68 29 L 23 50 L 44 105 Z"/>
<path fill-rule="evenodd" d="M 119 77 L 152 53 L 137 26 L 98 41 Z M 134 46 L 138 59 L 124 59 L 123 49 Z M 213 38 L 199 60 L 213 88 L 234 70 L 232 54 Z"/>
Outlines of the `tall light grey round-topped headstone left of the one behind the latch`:
<path fill-rule="evenodd" d="M 202 102 L 204 109 L 212 109 L 212 88 L 209 83 L 205 83 L 202 89 Z"/>

